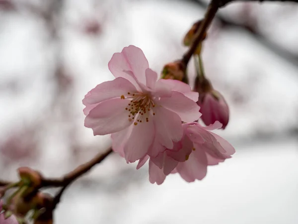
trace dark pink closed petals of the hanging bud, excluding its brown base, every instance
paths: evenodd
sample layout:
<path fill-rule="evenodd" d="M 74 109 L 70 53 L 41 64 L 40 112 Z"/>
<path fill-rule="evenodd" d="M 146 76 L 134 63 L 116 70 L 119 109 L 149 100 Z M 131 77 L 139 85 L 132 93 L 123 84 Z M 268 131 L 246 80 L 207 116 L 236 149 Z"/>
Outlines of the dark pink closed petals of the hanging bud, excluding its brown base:
<path fill-rule="evenodd" d="M 206 125 L 218 120 L 223 124 L 222 128 L 225 128 L 229 119 L 229 110 L 224 97 L 218 91 L 201 93 L 197 104 L 201 107 L 201 119 Z"/>

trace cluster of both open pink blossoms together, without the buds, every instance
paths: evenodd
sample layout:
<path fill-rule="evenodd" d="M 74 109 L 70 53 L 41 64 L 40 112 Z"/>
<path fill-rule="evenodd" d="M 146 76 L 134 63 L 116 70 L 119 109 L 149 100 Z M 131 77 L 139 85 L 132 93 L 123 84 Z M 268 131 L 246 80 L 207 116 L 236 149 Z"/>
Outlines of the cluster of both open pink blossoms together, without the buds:
<path fill-rule="evenodd" d="M 115 53 L 109 69 L 113 81 L 97 85 L 83 99 L 85 126 L 94 135 L 112 134 L 112 148 L 127 162 L 149 160 L 149 180 L 161 184 L 179 173 L 192 182 L 207 166 L 230 158 L 234 148 L 211 132 L 221 128 L 196 122 L 202 115 L 199 94 L 178 80 L 157 79 L 143 51 L 135 46 Z"/>

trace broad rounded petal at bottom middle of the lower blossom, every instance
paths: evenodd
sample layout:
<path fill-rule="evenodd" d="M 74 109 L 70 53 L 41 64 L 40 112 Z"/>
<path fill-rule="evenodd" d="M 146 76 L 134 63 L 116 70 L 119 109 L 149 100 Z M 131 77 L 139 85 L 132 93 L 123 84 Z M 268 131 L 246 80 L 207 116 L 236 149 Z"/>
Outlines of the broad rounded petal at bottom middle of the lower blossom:
<path fill-rule="evenodd" d="M 189 159 L 176 167 L 180 176 L 187 182 L 202 180 L 207 174 L 207 156 L 205 151 L 196 149 Z"/>

